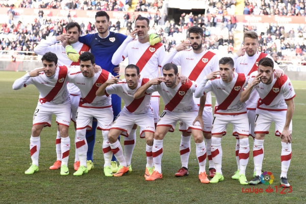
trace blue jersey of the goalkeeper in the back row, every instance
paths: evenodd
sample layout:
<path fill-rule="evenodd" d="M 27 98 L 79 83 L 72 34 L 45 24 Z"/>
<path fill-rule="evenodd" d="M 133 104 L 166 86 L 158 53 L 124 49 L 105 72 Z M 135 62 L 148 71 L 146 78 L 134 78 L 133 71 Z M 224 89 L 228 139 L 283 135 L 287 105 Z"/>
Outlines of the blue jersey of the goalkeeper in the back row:
<path fill-rule="evenodd" d="M 101 38 L 98 33 L 95 33 L 79 37 L 79 41 L 90 46 L 97 65 L 115 76 L 117 73 L 113 70 L 117 64 L 112 64 L 112 57 L 126 37 L 123 34 L 110 31 L 109 36 L 106 38 Z"/>

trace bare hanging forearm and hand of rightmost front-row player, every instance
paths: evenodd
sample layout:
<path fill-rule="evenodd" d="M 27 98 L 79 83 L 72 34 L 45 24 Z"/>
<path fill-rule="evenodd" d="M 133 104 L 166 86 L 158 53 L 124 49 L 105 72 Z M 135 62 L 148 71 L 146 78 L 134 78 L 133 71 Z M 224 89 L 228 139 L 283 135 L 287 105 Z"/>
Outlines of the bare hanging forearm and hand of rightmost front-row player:
<path fill-rule="evenodd" d="M 289 130 L 289 125 L 293 117 L 294 113 L 294 100 L 293 98 L 291 100 L 285 100 L 287 104 L 287 113 L 286 113 L 286 122 L 284 126 L 284 130 L 282 131 L 281 138 L 282 142 L 291 143 L 291 132 Z M 284 141 L 284 140 L 285 141 Z"/>

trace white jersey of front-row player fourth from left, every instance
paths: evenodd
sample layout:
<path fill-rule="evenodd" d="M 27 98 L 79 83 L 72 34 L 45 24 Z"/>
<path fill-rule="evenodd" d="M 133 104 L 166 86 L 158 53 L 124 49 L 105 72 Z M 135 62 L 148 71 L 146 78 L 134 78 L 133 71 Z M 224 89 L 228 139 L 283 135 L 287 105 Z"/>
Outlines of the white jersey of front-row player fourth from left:
<path fill-rule="evenodd" d="M 193 100 L 193 93 L 196 88 L 196 83 L 189 81 L 188 84 L 181 82 L 174 89 L 166 86 L 164 82 L 160 85 L 153 85 L 146 90 L 146 93 L 158 91 L 163 97 L 165 110 L 171 112 L 190 112 L 197 111 L 197 105 Z"/>

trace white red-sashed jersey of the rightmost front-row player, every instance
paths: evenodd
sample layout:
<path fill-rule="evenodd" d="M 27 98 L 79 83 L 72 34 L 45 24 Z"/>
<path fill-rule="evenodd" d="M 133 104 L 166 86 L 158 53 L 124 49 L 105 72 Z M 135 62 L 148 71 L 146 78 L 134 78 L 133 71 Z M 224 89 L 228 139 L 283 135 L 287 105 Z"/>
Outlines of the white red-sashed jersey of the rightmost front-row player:
<path fill-rule="evenodd" d="M 248 84 L 253 81 L 254 76 L 257 74 L 258 71 L 251 73 Z M 295 97 L 293 86 L 287 75 L 276 78 L 275 73 L 273 73 L 272 78 L 273 81 L 271 84 L 261 82 L 254 87 L 260 97 L 257 108 L 268 111 L 286 111 L 287 104 L 285 100 L 291 100 Z"/>

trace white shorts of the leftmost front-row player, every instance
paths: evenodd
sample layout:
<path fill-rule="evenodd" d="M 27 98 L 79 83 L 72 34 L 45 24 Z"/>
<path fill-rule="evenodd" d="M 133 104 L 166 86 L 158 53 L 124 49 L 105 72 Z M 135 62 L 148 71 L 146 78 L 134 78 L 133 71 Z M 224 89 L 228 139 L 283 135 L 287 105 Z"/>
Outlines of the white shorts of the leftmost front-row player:
<path fill-rule="evenodd" d="M 71 117 L 71 105 L 46 105 L 38 104 L 33 116 L 33 125 L 45 124 L 51 126 L 52 114 L 56 115 L 56 122 L 69 127 Z"/>

